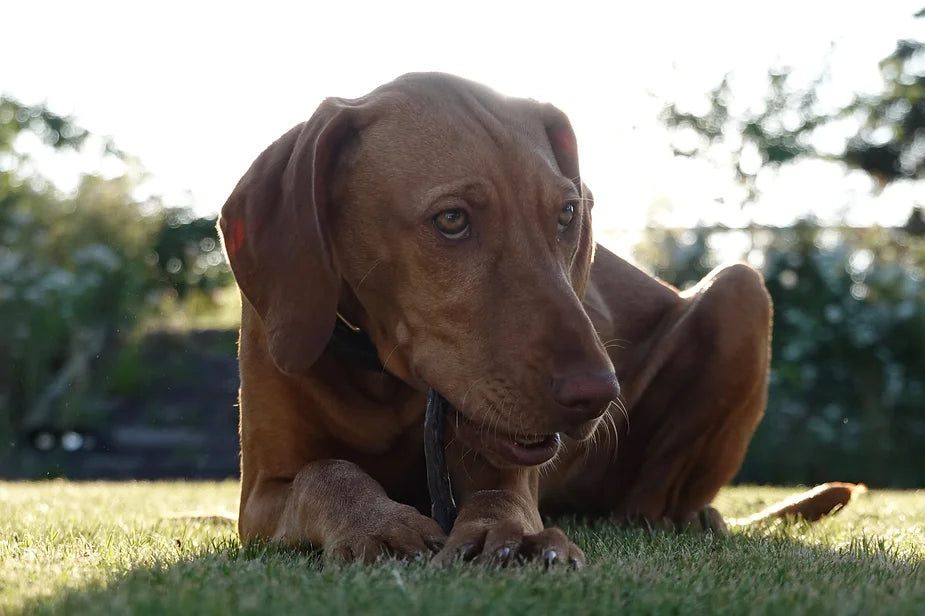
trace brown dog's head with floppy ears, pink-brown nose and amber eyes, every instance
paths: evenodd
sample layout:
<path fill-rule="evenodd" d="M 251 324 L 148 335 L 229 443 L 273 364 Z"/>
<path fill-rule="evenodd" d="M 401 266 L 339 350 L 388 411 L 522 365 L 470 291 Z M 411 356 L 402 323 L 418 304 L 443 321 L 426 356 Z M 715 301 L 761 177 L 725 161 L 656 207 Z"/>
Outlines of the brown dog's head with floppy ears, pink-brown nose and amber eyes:
<path fill-rule="evenodd" d="M 389 372 L 443 394 L 499 464 L 551 458 L 617 396 L 582 308 L 591 197 L 566 116 L 442 74 L 328 99 L 222 210 L 226 252 L 285 372 L 336 312 Z"/>

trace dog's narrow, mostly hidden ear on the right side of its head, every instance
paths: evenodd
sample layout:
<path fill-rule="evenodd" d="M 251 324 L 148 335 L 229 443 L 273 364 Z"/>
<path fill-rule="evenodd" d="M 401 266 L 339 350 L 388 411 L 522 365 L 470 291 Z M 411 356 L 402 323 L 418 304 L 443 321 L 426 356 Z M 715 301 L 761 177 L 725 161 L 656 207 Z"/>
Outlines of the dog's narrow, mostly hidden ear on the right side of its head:
<path fill-rule="evenodd" d="M 546 105 L 545 109 L 546 135 L 552 146 L 552 153 L 556 157 L 559 170 L 575 184 L 581 197 L 581 229 L 578 240 L 578 249 L 571 263 L 572 288 L 578 297 L 584 297 L 588 286 L 588 277 L 591 275 L 591 261 L 594 259 L 594 238 L 591 234 L 591 208 L 594 206 L 594 197 L 587 185 L 581 181 L 581 172 L 578 167 L 578 140 L 568 117 L 553 105 Z"/>

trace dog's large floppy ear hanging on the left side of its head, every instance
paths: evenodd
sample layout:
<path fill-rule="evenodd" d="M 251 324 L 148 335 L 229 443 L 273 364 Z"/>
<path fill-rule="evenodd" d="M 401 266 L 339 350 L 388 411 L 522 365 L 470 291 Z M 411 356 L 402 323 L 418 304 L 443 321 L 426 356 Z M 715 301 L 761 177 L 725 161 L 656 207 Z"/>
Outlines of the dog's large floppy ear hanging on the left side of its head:
<path fill-rule="evenodd" d="M 340 273 L 325 224 L 350 115 L 338 99 L 323 102 L 257 157 L 222 208 L 231 269 L 284 372 L 311 367 L 334 329 Z"/>

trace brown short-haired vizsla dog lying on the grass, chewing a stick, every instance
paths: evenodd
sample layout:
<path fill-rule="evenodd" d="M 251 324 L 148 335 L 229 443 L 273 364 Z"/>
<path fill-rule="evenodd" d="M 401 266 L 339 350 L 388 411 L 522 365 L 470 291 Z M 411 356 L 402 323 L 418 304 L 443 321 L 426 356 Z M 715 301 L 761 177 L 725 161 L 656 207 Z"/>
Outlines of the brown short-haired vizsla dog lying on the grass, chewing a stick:
<path fill-rule="evenodd" d="M 594 244 L 592 203 L 561 111 L 450 75 L 329 98 L 267 148 L 220 222 L 241 537 L 580 565 L 541 512 L 721 528 L 765 407 L 762 278 L 679 293 Z M 425 515 L 428 388 L 453 408 L 449 537 Z"/>

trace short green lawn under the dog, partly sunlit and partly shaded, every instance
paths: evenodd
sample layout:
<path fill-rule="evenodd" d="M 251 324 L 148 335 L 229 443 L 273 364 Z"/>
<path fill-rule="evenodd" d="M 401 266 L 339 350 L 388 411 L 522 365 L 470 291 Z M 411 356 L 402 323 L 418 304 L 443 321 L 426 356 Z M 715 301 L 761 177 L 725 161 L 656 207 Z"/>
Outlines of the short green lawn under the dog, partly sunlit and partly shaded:
<path fill-rule="evenodd" d="M 729 488 L 752 513 L 794 493 Z M 925 492 L 873 491 L 816 525 L 732 537 L 566 523 L 582 571 L 323 567 L 242 548 L 237 484 L 0 482 L 0 614 L 925 614 Z"/>

